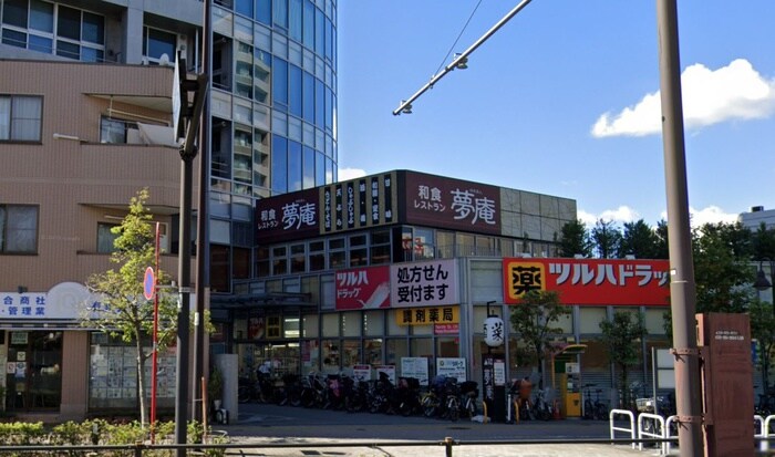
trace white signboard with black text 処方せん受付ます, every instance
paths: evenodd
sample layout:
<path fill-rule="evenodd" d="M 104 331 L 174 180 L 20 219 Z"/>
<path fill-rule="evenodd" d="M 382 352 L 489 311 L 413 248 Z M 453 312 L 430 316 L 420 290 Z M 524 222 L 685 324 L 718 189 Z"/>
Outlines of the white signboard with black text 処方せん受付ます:
<path fill-rule="evenodd" d="M 459 303 L 454 259 L 396 263 L 390 267 L 393 308 Z"/>

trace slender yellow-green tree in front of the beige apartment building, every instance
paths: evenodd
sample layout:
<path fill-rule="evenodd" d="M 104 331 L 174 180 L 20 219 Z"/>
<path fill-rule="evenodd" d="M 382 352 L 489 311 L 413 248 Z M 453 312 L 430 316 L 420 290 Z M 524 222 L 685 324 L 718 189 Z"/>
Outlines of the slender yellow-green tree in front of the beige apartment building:
<path fill-rule="evenodd" d="M 152 355 L 144 349 L 153 332 L 154 304 L 143 297 L 143 278 L 147 267 L 155 263 L 155 233 L 152 216 L 145 209 L 148 190 L 143 189 L 130 201 L 130 211 L 111 231 L 117 235 L 111 262 L 118 270 L 92 274 L 86 287 L 100 297 L 100 305 L 89 304 L 82 324 L 96 328 L 126 343 L 134 343 L 137 352 L 137 398 L 141 424 L 147 423 L 145 406 L 145 362 Z M 168 284 L 164 271 L 155 272 L 158 284 Z M 175 339 L 177 331 L 177 303 L 167 297 L 158 300 L 158 347 L 163 350 Z"/>

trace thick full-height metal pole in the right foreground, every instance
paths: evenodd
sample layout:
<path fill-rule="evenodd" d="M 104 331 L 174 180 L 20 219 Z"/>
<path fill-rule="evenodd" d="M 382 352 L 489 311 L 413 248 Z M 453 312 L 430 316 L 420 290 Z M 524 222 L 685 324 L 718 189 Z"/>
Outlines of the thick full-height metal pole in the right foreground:
<path fill-rule="evenodd" d="M 680 455 L 704 454 L 675 0 L 657 0 Z"/>

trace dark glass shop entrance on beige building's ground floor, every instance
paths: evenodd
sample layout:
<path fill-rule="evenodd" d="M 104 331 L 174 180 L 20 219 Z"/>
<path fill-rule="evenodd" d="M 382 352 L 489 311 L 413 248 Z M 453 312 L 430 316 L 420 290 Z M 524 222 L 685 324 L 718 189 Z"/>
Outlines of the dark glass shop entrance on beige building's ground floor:
<path fill-rule="evenodd" d="M 6 409 L 59 409 L 62 332 L 8 332 Z"/>

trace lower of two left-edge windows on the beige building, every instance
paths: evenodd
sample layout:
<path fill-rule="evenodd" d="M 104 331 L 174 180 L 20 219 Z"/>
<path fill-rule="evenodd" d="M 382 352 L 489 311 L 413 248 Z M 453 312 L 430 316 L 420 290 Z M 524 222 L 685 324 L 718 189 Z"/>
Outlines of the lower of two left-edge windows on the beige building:
<path fill-rule="evenodd" d="M 38 207 L 0 205 L 0 253 L 38 252 Z"/>

